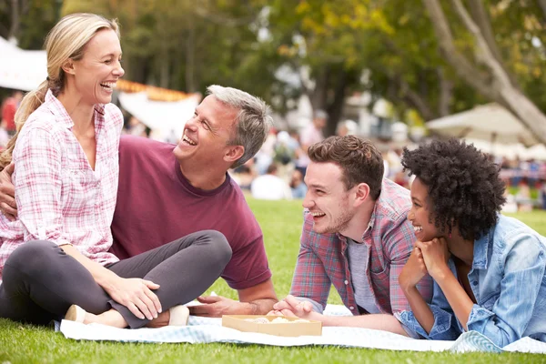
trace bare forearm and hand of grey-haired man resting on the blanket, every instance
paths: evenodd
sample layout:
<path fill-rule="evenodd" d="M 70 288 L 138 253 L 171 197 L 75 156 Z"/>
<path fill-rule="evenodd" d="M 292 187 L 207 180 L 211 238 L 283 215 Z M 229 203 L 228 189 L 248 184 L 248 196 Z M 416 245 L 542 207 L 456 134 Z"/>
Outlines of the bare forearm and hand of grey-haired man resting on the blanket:
<path fill-rule="evenodd" d="M 256 286 L 238 289 L 239 300 L 221 296 L 199 297 L 203 305 L 192 306 L 192 315 L 218 318 L 222 315 L 265 315 L 277 303 L 277 295 L 271 278 Z"/>

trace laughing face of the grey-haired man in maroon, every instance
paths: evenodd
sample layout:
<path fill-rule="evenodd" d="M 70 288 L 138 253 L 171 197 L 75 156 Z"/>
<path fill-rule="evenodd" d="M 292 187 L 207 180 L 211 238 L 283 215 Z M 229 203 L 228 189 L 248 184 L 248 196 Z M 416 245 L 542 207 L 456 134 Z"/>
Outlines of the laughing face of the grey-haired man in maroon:
<path fill-rule="evenodd" d="M 235 133 L 238 110 L 213 95 L 203 99 L 184 126 L 184 134 L 174 150 L 178 162 L 191 158 L 202 166 L 224 168 L 237 146 L 227 145 Z M 238 148 L 241 148 L 238 146 Z M 232 163 L 232 162 L 231 162 Z M 226 167 L 227 170 L 227 167 Z"/>

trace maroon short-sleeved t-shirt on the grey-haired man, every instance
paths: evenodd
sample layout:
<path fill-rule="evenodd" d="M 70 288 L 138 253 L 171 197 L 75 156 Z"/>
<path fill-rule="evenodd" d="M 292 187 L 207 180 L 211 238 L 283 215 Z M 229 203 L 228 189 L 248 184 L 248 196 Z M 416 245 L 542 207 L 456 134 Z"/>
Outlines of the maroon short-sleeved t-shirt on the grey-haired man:
<path fill-rule="evenodd" d="M 122 136 L 112 221 L 117 258 L 128 258 L 199 230 L 223 233 L 233 251 L 222 278 L 244 289 L 271 277 L 262 231 L 237 183 L 204 191 L 189 184 L 172 144 Z"/>

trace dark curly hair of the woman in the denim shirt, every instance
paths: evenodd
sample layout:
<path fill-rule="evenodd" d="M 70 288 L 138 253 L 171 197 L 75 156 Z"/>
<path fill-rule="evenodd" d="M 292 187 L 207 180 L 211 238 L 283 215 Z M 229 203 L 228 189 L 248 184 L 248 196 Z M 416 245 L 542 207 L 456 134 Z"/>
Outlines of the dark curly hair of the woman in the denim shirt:
<path fill-rule="evenodd" d="M 506 202 L 499 169 L 474 145 L 458 139 L 434 140 L 415 150 L 404 148 L 404 171 L 429 189 L 436 227 L 459 227 L 462 238 L 478 239 L 497 223 Z"/>

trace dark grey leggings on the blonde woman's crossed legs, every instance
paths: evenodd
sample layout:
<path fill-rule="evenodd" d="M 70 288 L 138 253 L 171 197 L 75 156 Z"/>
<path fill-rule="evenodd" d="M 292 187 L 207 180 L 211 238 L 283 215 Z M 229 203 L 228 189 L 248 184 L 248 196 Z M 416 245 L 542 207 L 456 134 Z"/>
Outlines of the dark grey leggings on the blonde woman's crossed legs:
<path fill-rule="evenodd" d="M 231 258 L 226 238 L 205 230 L 106 266 L 122 278 L 144 278 L 166 310 L 197 298 L 222 274 Z M 5 261 L 0 318 L 45 325 L 62 319 L 70 305 L 100 314 L 116 309 L 132 329 L 146 325 L 96 284 L 89 271 L 50 241 L 26 242 Z"/>

